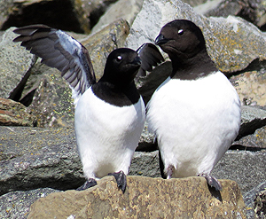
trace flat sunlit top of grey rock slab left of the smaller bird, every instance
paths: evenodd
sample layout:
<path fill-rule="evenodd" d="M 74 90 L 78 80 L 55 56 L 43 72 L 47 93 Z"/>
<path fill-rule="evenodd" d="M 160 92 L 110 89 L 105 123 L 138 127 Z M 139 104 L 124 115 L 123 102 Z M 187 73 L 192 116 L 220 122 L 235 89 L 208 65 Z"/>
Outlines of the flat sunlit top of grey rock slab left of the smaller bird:
<path fill-rule="evenodd" d="M 75 152 L 74 129 L 0 126 L 0 133 L 0 161 L 37 155 L 43 147 L 52 145 L 73 145 L 71 150 Z M 66 151 L 63 150 L 62 153 Z"/>

